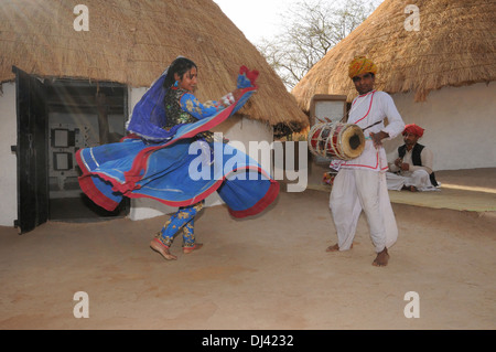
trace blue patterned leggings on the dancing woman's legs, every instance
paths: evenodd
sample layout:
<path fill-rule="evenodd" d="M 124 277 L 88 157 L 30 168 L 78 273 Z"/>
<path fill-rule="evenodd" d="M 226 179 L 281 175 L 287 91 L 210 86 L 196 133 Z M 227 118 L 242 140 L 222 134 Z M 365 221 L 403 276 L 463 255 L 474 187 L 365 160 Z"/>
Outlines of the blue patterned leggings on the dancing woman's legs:
<path fill-rule="evenodd" d="M 169 218 L 159 232 L 158 238 L 165 246 L 170 247 L 174 241 L 174 236 L 183 232 L 183 247 L 194 247 L 195 245 L 195 216 L 203 209 L 204 201 L 190 206 L 183 206 Z"/>

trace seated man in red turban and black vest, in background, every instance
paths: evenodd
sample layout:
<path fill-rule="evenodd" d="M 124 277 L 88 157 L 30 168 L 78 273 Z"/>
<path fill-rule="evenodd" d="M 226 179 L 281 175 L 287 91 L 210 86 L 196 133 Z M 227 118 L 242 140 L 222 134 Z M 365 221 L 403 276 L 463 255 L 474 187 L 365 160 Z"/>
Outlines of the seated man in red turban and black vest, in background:
<path fill-rule="evenodd" d="M 423 136 L 423 128 L 416 124 L 407 125 L 402 132 L 405 145 L 398 148 L 395 163 L 386 172 L 388 190 L 434 191 L 438 190 L 432 172 L 432 151 L 418 140 Z"/>

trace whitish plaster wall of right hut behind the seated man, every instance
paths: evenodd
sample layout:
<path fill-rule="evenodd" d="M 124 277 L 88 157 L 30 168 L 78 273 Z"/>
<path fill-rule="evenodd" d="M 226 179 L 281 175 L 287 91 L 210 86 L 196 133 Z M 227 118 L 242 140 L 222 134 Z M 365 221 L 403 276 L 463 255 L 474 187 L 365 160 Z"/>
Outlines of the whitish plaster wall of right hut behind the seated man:
<path fill-rule="evenodd" d="M 435 170 L 496 167 L 496 83 L 445 87 L 431 92 L 427 102 L 413 94 L 393 94 L 405 124 L 424 128 L 420 143 L 434 153 Z M 385 143 L 389 161 L 403 143 L 401 136 Z"/>

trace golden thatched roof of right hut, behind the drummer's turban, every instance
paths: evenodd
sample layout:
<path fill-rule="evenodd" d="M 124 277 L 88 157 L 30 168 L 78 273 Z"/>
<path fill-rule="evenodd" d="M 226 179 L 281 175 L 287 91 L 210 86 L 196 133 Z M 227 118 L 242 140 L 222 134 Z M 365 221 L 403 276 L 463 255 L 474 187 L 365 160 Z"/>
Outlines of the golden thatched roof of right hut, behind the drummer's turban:
<path fill-rule="evenodd" d="M 419 8 L 420 31 L 405 29 L 410 3 Z M 304 110 L 315 94 L 342 94 L 352 100 L 357 93 L 347 76 L 348 64 L 359 55 L 377 64 L 378 89 L 413 92 L 416 102 L 444 86 L 495 81 L 495 0 L 385 0 L 292 94 Z"/>

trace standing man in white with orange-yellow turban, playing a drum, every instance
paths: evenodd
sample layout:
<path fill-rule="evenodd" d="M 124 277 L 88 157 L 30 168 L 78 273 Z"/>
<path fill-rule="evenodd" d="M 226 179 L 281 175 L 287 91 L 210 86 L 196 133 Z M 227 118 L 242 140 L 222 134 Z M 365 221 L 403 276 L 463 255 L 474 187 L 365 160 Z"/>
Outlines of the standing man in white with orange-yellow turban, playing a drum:
<path fill-rule="evenodd" d="M 365 56 L 355 57 L 348 67 L 349 78 L 359 95 L 352 103 L 347 122 L 364 130 L 366 142 L 359 157 L 331 163 L 331 168 L 338 171 L 330 199 L 337 243 L 326 250 L 352 248 L 358 217 L 364 211 L 377 254 L 373 265 L 386 266 L 388 248 L 396 243 L 398 227 L 386 184 L 388 162 L 382 140 L 400 135 L 405 122 L 392 98 L 374 89 L 377 71 L 376 64 Z"/>

